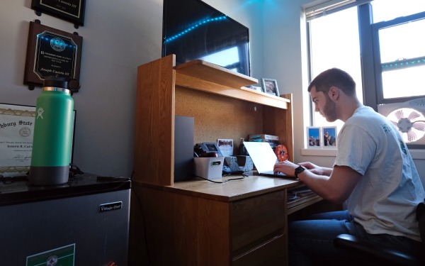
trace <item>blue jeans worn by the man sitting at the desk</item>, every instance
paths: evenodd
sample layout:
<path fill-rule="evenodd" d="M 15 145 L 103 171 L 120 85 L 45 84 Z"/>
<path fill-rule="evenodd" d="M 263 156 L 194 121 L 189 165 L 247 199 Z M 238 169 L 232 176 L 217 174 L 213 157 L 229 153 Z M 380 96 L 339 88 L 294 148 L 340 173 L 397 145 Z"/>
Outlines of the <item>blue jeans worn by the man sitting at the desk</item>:
<path fill-rule="evenodd" d="M 348 211 L 333 211 L 314 214 L 309 220 L 288 224 L 289 265 L 329 265 L 335 262 L 347 265 L 358 262 L 361 258 L 357 255 L 334 247 L 333 240 L 341 233 L 356 235 L 406 252 L 415 253 L 416 250 L 419 254 L 423 253 L 420 242 L 395 235 L 366 233 L 360 224 L 353 221 Z"/>

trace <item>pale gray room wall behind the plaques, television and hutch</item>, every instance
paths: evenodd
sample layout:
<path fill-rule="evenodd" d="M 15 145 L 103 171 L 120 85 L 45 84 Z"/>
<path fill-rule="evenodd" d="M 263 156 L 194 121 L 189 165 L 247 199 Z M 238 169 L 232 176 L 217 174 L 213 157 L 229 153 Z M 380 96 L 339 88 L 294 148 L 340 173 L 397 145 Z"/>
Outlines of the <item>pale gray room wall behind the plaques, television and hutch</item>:
<path fill-rule="evenodd" d="M 323 0 L 319 0 L 323 1 Z M 314 2 L 319 2 L 314 1 Z M 86 172 L 132 172 L 137 66 L 161 56 L 162 0 L 87 0 L 86 21 L 72 23 L 30 9 L 30 0 L 0 2 L 0 102 L 35 105 L 40 94 L 23 85 L 29 21 L 83 37 L 81 91 L 74 162 Z M 250 29 L 251 76 L 278 80 L 293 93 L 295 161 L 330 166 L 334 157 L 304 156 L 308 101 L 305 22 L 302 7 L 312 0 L 205 0 Z M 422 151 L 423 152 L 423 151 Z M 424 153 L 415 160 L 424 178 Z M 420 168 L 421 167 L 421 168 Z"/>

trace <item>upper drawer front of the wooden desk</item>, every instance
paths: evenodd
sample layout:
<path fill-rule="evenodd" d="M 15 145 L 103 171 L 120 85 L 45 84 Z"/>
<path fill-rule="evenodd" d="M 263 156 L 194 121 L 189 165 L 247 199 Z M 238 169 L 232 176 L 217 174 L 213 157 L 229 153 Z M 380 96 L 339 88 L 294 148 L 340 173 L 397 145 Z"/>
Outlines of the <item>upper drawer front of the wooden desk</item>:
<path fill-rule="evenodd" d="M 286 235 L 285 201 L 286 191 L 281 190 L 232 203 L 232 257 L 254 250 L 279 235 Z"/>

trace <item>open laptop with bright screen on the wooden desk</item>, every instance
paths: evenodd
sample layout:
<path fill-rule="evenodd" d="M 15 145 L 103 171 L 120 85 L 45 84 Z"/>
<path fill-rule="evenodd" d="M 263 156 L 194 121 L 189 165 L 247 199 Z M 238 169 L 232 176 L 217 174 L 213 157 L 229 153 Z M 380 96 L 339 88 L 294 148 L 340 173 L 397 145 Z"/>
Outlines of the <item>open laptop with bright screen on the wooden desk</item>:
<path fill-rule="evenodd" d="M 274 173 L 273 167 L 278 162 L 278 157 L 273 152 L 270 144 L 263 142 L 244 142 L 245 148 L 256 167 L 257 172 L 268 177 L 293 177 L 283 173 Z M 293 177 L 295 178 L 295 177 Z"/>

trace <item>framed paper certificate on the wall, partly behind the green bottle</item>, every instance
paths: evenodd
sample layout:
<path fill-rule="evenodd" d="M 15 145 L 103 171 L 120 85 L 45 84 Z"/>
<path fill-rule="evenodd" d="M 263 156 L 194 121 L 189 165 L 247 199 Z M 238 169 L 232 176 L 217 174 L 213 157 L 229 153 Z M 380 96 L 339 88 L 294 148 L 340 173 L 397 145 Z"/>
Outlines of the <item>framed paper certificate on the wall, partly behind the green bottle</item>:
<path fill-rule="evenodd" d="M 74 110 L 70 163 L 74 155 L 76 118 Z M 0 176 L 23 176 L 30 170 L 34 123 L 35 106 L 0 102 Z"/>

